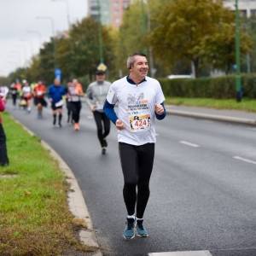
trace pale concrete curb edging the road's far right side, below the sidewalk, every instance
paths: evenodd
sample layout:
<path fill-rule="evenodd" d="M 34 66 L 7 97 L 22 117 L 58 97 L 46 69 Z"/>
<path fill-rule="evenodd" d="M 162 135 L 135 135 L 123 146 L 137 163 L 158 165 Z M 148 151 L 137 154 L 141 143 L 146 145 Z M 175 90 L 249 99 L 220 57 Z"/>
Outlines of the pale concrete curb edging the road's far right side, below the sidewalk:
<path fill-rule="evenodd" d="M 189 111 L 183 111 L 183 110 L 172 110 L 172 109 L 166 109 L 166 113 L 182 115 L 182 116 L 187 116 L 187 117 L 195 117 L 195 118 L 201 118 L 201 119 L 212 119 L 212 120 L 232 122 L 232 123 L 243 124 L 243 125 L 256 126 L 256 120 L 254 120 L 254 119 L 241 119 L 241 118 L 235 118 L 235 117 L 230 117 L 230 116 L 221 116 L 221 115 L 212 114 L 212 113 L 196 113 L 196 112 L 189 112 Z"/>

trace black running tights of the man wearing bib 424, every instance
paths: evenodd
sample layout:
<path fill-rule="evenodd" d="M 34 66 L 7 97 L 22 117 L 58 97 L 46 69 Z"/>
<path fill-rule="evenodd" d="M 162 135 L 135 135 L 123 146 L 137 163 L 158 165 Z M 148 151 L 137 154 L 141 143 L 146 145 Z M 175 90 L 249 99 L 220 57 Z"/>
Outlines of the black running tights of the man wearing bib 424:
<path fill-rule="evenodd" d="M 128 215 L 143 218 L 150 195 L 149 179 L 154 163 L 154 143 L 134 146 L 119 143 L 119 158 L 124 174 L 123 195 Z"/>

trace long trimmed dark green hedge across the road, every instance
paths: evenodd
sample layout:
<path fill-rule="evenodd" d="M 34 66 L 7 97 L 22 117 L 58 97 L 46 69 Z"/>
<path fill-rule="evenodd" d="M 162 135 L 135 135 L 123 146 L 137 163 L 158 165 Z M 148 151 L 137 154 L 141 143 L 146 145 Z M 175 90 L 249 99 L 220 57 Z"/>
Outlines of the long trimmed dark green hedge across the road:
<path fill-rule="evenodd" d="M 236 98 L 236 75 L 201 79 L 158 79 L 166 96 Z M 241 74 L 243 97 L 256 98 L 256 74 Z"/>

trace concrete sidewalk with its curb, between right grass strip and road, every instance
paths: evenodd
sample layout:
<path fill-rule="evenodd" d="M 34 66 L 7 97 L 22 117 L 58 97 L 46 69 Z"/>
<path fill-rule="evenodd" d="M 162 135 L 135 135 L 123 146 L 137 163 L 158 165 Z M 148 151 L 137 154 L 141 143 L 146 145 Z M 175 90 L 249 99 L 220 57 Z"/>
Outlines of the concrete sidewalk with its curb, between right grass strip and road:
<path fill-rule="evenodd" d="M 256 113 L 238 110 L 166 105 L 166 113 L 256 126 Z"/>

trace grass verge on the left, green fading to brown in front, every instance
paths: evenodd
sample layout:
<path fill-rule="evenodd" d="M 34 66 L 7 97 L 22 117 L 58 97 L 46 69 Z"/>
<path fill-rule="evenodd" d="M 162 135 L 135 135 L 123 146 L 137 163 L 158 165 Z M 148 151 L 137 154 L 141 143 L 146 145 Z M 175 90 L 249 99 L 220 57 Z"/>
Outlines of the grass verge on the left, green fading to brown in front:
<path fill-rule="evenodd" d="M 57 161 L 39 137 L 30 136 L 8 113 L 2 118 L 9 166 L 0 167 L 0 255 L 93 251 L 77 239 L 82 224 L 68 210 L 69 187 Z"/>

